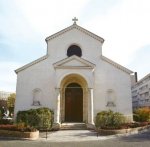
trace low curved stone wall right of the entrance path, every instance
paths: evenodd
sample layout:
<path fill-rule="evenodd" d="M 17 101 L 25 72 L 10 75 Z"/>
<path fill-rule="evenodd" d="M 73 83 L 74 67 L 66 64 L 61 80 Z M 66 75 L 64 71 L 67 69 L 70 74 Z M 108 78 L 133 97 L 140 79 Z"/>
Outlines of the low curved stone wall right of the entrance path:
<path fill-rule="evenodd" d="M 129 128 L 129 129 L 119 129 L 119 130 L 106 130 L 106 129 L 97 129 L 97 135 L 115 135 L 115 134 L 125 134 L 125 133 L 138 133 L 144 129 L 149 129 L 150 125 L 138 128 Z"/>

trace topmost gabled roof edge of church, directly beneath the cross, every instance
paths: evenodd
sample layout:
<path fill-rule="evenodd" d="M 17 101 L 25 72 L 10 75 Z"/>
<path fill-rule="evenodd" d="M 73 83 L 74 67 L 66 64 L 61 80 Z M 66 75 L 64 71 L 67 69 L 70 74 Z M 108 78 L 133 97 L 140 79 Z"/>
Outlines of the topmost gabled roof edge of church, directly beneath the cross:
<path fill-rule="evenodd" d="M 47 42 L 47 41 L 49 41 L 49 40 L 51 40 L 51 39 L 54 39 L 54 38 L 56 38 L 56 37 L 58 37 L 58 36 L 64 34 L 64 33 L 67 32 L 67 31 L 72 30 L 72 29 L 77 29 L 77 30 L 79 30 L 79 31 L 81 31 L 81 32 L 83 32 L 83 33 L 85 33 L 85 34 L 91 36 L 92 38 L 94 38 L 94 39 L 100 41 L 101 43 L 104 42 L 104 39 L 103 39 L 103 38 L 101 38 L 101 37 L 95 35 L 94 33 L 92 33 L 92 32 L 90 32 L 90 31 L 88 31 L 88 30 L 86 30 L 86 29 L 84 29 L 84 28 L 78 26 L 77 24 L 73 24 L 73 25 L 71 25 L 71 26 L 69 26 L 69 27 L 67 27 L 67 28 L 65 28 L 65 29 L 63 29 L 63 30 L 61 30 L 61 31 L 59 31 L 59 32 L 57 32 L 57 33 L 55 33 L 55 34 L 53 34 L 53 35 L 47 37 L 45 40 L 46 40 L 46 42 Z"/>

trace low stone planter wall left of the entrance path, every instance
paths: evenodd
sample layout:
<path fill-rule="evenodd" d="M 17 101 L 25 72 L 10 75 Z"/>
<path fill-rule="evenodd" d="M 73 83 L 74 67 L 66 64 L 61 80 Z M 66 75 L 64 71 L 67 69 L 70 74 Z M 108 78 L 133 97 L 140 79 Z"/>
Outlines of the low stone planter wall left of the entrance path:
<path fill-rule="evenodd" d="M 20 132 L 20 131 L 0 130 L 0 137 L 11 137 L 11 138 L 23 138 L 23 139 L 29 139 L 29 140 L 36 140 L 39 138 L 39 131 Z"/>

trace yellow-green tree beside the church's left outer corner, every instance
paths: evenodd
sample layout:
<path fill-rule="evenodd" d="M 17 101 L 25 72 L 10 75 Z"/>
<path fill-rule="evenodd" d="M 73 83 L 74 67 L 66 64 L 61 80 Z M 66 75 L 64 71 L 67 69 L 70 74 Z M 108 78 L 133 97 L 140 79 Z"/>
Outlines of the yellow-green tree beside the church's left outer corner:
<path fill-rule="evenodd" d="M 14 105 L 15 105 L 16 94 L 12 93 L 7 99 L 7 108 L 10 111 L 10 114 L 14 113 Z"/>

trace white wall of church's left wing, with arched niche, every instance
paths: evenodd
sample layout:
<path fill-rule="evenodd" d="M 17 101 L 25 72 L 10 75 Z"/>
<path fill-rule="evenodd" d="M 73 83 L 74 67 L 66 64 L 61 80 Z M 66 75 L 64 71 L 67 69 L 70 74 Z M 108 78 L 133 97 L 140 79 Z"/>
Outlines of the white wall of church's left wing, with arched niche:
<path fill-rule="evenodd" d="M 33 104 L 33 90 L 42 90 L 41 106 L 54 109 L 55 102 L 55 79 L 54 69 L 48 59 L 41 61 L 21 71 L 17 75 L 16 106 L 18 110 L 35 108 Z"/>

